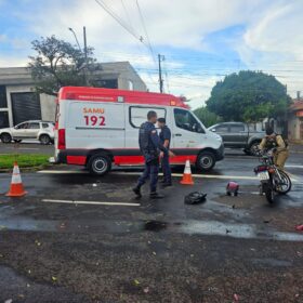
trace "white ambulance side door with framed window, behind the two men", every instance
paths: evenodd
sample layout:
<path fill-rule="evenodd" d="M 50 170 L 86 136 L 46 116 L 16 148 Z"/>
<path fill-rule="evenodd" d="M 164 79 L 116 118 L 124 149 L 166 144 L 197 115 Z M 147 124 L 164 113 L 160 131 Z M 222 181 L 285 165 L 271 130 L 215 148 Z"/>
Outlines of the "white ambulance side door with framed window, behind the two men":
<path fill-rule="evenodd" d="M 139 149 L 139 129 L 142 123 L 147 120 L 147 113 L 154 110 L 158 118 L 167 118 L 167 109 L 163 107 L 130 105 L 129 110 L 126 110 L 127 131 L 126 131 L 126 147 Z M 157 124 L 156 124 L 157 128 Z"/>

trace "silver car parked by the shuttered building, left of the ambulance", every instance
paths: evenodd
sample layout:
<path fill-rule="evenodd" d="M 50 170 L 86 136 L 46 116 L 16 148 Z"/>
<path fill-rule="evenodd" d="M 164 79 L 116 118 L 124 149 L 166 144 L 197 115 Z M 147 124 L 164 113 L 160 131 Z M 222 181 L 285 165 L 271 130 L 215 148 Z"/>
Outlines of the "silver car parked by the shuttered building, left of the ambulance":
<path fill-rule="evenodd" d="M 3 143 L 39 140 L 41 144 L 47 145 L 54 142 L 54 123 L 49 121 L 25 121 L 14 128 L 0 129 L 0 139 Z"/>

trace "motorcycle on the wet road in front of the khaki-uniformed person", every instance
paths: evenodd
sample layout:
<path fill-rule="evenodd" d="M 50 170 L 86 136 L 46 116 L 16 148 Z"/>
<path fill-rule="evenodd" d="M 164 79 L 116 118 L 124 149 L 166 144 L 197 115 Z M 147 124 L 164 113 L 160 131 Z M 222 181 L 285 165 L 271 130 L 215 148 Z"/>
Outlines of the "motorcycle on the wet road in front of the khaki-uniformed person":
<path fill-rule="evenodd" d="M 292 186 L 289 175 L 275 166 L 273 152 L 273 149 L 259 150 L 256 155 L 262 164 L 254 168 L 254 173 L 261 182 L 260 195 L 265 194 L 269 203 L 275 201 L 277 195 L 289 193 Z"/>

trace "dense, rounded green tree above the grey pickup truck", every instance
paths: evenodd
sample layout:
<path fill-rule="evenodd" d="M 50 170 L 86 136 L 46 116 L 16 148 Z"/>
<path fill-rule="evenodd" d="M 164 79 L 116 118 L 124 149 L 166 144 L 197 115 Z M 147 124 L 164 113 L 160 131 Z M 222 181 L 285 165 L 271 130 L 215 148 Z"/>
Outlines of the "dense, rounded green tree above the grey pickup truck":
<path fill-rule="evenodd" d="M 207 108 L 226 120 L 256 122 L 286 113 L 290 97 L 272 75 L 242 70 L 218 82 L 207 101 Z"/>

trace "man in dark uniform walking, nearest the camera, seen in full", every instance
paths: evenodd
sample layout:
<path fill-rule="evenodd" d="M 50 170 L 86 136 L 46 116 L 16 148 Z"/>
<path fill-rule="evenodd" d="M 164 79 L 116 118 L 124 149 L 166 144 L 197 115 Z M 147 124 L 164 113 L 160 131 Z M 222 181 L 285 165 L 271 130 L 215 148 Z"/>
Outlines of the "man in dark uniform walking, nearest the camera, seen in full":
<path fill-rule="evenodd" d="M 159 172 L 159 150 L 168 154 L 168 148 L 160 143 L 155 123 L 157 122 L 157 113 L 148 111 L 147 120 L 140 128 L 139 145 L 145 159 L 144 172 L 140 176 L 136 186 L 133 188 L 135 195 L 141 197 L 141 186 L 150 179 L 150 198 L 160 199 L 162 195 L 157 193 L 158 172 Z"/>

